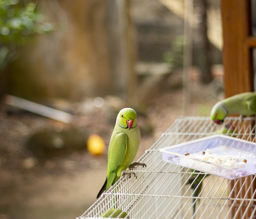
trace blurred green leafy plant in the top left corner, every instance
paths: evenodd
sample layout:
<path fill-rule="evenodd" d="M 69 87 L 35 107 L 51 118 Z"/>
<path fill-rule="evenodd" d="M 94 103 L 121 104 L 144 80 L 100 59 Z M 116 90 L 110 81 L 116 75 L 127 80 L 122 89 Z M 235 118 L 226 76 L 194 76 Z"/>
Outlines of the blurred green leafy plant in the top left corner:
<path fill-rule="evenodd" d="M 16 59 L 18 46 L 27 43 L 28 36 L 53 30 L 36 5 L 28 0 L 0 0 L 0 71 Z"/>

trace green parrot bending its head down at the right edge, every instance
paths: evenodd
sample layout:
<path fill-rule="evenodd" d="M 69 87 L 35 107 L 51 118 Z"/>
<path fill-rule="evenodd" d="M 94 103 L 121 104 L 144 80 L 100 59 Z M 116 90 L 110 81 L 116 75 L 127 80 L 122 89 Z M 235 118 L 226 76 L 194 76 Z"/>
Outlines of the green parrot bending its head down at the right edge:
<path fill-rule="evenodd" d="M 256 92 L 240 93 L 219 101 L 212 107 L 211 119 L 221 124 L 230 114 L 242 116 L 256 114 Z"/>

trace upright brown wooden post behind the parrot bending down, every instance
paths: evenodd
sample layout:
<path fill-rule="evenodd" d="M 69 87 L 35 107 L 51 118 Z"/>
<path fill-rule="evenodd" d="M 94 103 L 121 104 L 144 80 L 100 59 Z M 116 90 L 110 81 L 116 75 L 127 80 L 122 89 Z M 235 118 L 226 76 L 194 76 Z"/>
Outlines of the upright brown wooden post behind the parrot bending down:
<path fill-rule="evenodd" d="M 221 0 L 226 97 L 254 91 L 250 0 Z"/>

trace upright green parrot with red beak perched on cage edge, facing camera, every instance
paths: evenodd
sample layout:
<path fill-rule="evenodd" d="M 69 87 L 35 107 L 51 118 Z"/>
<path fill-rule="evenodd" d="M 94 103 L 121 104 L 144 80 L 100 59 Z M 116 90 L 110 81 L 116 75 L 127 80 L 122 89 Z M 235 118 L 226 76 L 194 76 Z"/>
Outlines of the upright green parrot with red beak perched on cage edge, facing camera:
<path fill-rule="evenodd" d="M 117 115 L 108 148 L 107 177 L 97 198 L 114 185 L 128 167 L 132 170 L 137 165 L 146 166 L 138 162 L 131 164 L 140 145 L 140 128 L 136 118 L 137 114 L 131 108 L 124 108 Z"/>

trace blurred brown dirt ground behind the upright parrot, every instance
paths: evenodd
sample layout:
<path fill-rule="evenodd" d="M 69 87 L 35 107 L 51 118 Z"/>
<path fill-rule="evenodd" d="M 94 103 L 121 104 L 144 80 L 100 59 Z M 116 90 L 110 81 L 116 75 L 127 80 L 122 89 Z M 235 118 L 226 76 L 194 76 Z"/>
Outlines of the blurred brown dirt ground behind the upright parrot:
<path fill-rule="evenodd" d="M 162 132 L 182 115 L 209 116 L 222 98 L 221 81 L 200 85 L 191 76 L 188 102 L 182 105 L 180 75 L 172 75 L 157 95 L 138 109 L 142 140 L 137 160 Z M 87 102 L 88 103 L 88 102 Z M 72 126 L 85 136 L 98 133 L 108 145 L 117 114 L 92 106 L 76 116 Z M 109 108 L 108 108 L 109 109 Z M 114 119 L 113 119 L 114 118 Z M 0 219 L 70 219 L 96 201 L 106 176 L 107 149 L 102 156 L 86 150 L 39 159 L 26 148 L 30 136 L 43 128 L 64 130 L 68 125 L 2 104 L 0 108 Z"/>

